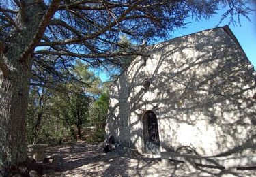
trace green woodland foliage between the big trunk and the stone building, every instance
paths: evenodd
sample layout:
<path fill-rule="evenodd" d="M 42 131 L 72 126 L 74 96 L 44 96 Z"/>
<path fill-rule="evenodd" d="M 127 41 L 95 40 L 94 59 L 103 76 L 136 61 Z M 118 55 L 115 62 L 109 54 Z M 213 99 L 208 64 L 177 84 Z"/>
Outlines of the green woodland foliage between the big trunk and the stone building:
<path fill-rule="evenodd" d="M 64 80 L 61 88 L 31 86 L 27 113 L 27 144 L 61 144 L 79 140 L 102 141 L 109 106 L 111 82 L 96 77 L 89 67 L 76 63 L 75 80 Z M 54 82 L 54 78 L 51 78 Z"/>

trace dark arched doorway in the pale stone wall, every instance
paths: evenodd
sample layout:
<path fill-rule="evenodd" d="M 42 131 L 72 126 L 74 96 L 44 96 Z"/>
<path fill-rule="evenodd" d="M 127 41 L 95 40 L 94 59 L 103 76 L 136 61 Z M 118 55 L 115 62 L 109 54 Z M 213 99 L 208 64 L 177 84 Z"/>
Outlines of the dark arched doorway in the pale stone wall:
<path fill-rule="evenodd" d="M 160 155 L 160 141 L 156 114 L 151 110 L 143 114 L 143 139 L 144 151 Z"/>

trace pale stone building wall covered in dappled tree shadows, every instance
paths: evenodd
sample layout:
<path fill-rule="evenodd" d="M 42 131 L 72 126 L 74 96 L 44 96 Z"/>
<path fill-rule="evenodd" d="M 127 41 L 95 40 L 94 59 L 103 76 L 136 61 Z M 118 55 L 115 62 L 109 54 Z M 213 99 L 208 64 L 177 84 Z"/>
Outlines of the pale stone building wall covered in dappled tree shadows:
<path fill-rule="evenodd" d="M 256 145 L 256 74 L 222 29 L 147 48 L 111 86 L 107 135 L 143 152 L 142 114 L 158 118 L 161 151 L 223 155 Z M 145 78 L 150 88 L 143 88 Z"/>

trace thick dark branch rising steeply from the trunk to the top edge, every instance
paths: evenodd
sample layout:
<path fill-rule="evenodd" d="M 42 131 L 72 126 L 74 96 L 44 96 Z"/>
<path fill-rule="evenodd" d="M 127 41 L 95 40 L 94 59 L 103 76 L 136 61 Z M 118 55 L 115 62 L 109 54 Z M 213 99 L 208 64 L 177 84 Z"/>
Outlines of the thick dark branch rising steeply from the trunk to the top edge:
<path fill-rule="evenodd" d="M 48 11 L 44 15 L 44 18 L 40 22 L 40 25 L 38 27 L 38 31 L 35 33 L 32 42 L 25 48 L 25 51 L 21 55 L 20 61 L 25 62 L 29 54 L 35 50 L 35 47 L 40 42 L 40 39 L 44 35 L 44 31 L 46 27 L 48 26 L 48 23 L 50 22 L 51 18 L 53 17 L 53 14 L 55 14 L 57 7 L 59 6 L 61 0 L 53 0 L 51 5 L 48 8 Z"/>

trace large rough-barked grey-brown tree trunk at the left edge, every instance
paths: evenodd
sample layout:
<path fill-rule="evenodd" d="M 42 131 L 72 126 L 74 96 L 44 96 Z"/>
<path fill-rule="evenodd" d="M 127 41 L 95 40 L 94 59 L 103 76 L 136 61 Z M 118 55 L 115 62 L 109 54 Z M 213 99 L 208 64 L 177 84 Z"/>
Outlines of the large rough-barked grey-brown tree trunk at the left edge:
<path fill-rule="evenodd" d="M 1 61 L 10 70 L 8 77 L 0 70 L 0 176 L 10 165 L 26 159 L 25 120 L 33 57 L 29 54 L 23 59 L 22 54 L 33 41 L 44 12 L 42 5 L 35 4 L 26 9 L 25 21 L 18 14 L 16 24 L 20 30 L 12 31 L 6 41 L 8 49 L 0 52 Z"/>

